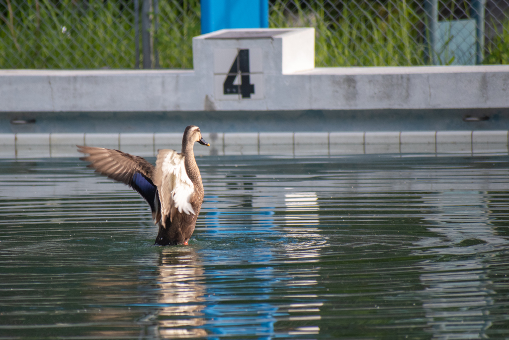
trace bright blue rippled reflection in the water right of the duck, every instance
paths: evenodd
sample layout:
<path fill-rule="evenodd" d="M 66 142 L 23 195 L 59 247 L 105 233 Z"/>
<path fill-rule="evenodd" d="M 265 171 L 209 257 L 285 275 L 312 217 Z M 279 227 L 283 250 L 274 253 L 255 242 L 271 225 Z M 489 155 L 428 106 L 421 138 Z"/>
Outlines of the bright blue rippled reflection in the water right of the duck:
<path fill-rule="evenodd" d="M 217 196 L 216 196 L 217 197 Z M 208 199 L 214 199 L 216 197 L 209 197 Z M 244 197 L 245 198 L 245 197 Z M 251 203 L 251 198 L 248 198 Z M 205 223 L 207 224 L 206 233 L 216 234 L 221 237 L 223 234 L 228 237 L 231 233 L 239 233 L 238 226 L 232 226 L 231 223 L 224 224 L 224 221 L 243 221 L 243 224 L 247 227 L 242 229 L 242 233 L 261 233 L 264 234 L 277 234 L 278 231 L 273 228 L 275 227 L 274 219 L 271 216 L 274 215 L 274 207 L 263 208 L 262 211 L 227 211 L 213 208 L 208 211 L 205 216 Z M 267 209 L 267 210 L 265 210 Z M 247 222 L 250 221 L 250 222 Z M 256 226 L 252 228 L 251 226 Z M 262 230 L 260 227 L 263 227 Z M 255 246 L 256 247 L 256 246 Z M 224 253 L 224 251 L 216 251 L 215 254 L 209 256 L 210 260 L 214 263 L 224 264 L 229 263 L 232 255 L 230 253 Z M 270 248 L 264 247 L 263 249 L 243 249 L 237 252 L 237 260 L 245 261 L 249 264 L 269 264 L 273 260 L 273 253 Z M 234 269 L 235 270 L 235 269 Z M 232 275 L 225 275 L 225 271 L 231 271 L 231 269 L 219 269 L 209 270 L 209 276 L 213 278 L 214 282 L 221 282 L 225 279 L 230 281 Z M 247 275 L 246 275 L 247 273 Z M 240 274 L 240 272 L 239 272 Z M 250 274 L 250 275 L 249 275 Z M 239 334 L 260 334 L 260 339 L 269 339 L 274 334 L 274 323 L 276 319 L 274 314 L 277 312 L 278 307 L 270 303 L 257 303 L 258 301 L 270 300 L 270 294 L 273 293 L 272 286 L 274 283 L 280 281 L 274 273 L 272 266 L 257 266 L 251 271 L 244 270 L 243 276 L 240 280 L 253 279 L 253 283 L 250 287 L 250 294 L 253 295 L 252 301 L 248 304 L 237 304 L 232 306 L 231 304 L 221 304 L 222 297 L 224 294 L 223 287 L 215 287 L 214 284 L 207 285 L 207 294 L 209 299 L 205 308 L 203 309 L 204 315 L 209 320 L 204 326 L 207 329 L 209 336 L 214 335 L 239 335 Z M 235 316 L 237 315 L 237 316 Z M 219 337 L 211 337 L 216 339 Z"/>

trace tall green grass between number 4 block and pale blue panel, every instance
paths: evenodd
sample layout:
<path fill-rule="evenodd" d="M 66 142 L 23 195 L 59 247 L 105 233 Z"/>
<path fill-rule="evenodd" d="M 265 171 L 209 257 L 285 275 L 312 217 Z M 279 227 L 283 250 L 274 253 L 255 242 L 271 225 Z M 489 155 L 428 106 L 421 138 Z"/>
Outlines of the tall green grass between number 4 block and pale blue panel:
<path fill-rule="evenodd" d="M 322 1 L 304 11 L 296 3 L 296 16 L 288 20 L 284 4 L 274 5 L 271 27 L 314 27 L 317 66 L 423 65 L 425 45 L 417 27 L 422 18 L 405 1 L 397 6 L 369 7 L 349 2 L 338 19 L 326 15 Z"/>

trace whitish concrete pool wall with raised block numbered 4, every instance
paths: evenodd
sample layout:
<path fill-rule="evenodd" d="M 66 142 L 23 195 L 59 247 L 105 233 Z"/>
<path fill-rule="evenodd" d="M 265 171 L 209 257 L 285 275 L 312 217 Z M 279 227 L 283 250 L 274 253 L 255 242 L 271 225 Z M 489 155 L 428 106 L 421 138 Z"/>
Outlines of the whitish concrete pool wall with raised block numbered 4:
<path fill-rule="evenodd" d="M 265 133 L 281 133 L 280 145 L 320 133 L 329 153 L 330 136 L 345 133 L 364 136 L 363 152 L 376 134 L 447 135 L 473 152 L 484 131 L 507 144 L 509 65 L 315 68 L 314 39 L 314 29 L 221 30 L 193 39 L 193 70 L 0 70 L 0 145 L 54 149 L 66 134 L 103 134 L 121 147 L 143 135 L 154 149 L 155 136 L 189 124 L 223 146 L 257 134 L 257 152 Z"/>

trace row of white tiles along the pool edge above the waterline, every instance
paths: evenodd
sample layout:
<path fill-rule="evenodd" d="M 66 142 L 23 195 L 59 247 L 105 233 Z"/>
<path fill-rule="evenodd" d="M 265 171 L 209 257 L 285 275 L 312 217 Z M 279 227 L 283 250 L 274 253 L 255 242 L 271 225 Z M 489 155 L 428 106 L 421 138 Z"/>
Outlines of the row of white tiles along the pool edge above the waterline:
<path fill-rule="evenodd" d="M 195 147 L 196 155 L 509 154 L 508 130 L 206 133 L 203 137 L 211 147 Z M 159 148 L 180 150 L 181 141 L 180 133 L 0 134 L 0 158 L 77 157 L 76 145 L 154 156 Z"/>

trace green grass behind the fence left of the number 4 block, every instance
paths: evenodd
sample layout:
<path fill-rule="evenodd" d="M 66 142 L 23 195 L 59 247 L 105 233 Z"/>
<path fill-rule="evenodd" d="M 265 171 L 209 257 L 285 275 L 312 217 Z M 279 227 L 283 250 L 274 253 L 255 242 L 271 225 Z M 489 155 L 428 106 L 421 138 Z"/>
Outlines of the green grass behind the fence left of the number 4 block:
<path fill-rule="evenodd" d="M 62 0 L 56 6 L 50 0 L 26 0 L 16 6 L 7 0 L 8 6 L 0 7 L 0 68 L 134 68 L 133 2 L 120 4 Z M 200 35 L 199 13 L 198 0 L 183 6 L 160 1 L 157 34 L 152 27 L 160 67 L 192 68 L 191 39 Z"/>

